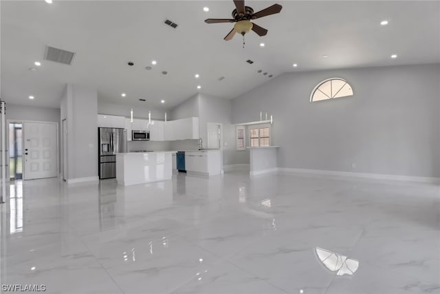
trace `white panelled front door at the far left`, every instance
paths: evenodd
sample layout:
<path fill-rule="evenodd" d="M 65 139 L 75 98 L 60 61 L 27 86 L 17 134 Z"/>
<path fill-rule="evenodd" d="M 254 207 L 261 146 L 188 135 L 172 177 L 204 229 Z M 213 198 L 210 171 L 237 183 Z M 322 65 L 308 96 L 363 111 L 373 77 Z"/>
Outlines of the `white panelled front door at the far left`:
<path fill-rule="evenodd" d="M 24 179 L 58 176 L 56 123 L 23 123 Z"/>

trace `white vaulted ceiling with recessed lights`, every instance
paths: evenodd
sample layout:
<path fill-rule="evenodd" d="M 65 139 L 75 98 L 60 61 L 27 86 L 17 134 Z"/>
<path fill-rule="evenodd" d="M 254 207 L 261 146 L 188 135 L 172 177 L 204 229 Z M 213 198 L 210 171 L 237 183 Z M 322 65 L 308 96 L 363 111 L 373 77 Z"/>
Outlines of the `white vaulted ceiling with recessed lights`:
<path fill-rule="evenodd" d="M 200 92 L 235 98 L 269 81 L 269 74 L 440 62 L 439 1 L 246 5 L 258 11 L 274 3 L 283 6 L 280 14 L 254 21 L 269 30 L 267 36 L 250 32 L 243 49 L 239 35 L 223 41 L 232 23 L 203 22 L 229 18 L 230 0 L 1 1 L 1 98 L 59 107 L 65 84 L 78 83 L 96 87 L 100 101 L 135 106 L 145 98 L 153 108 L 170 108 L 196 94 L 197 85 Z M 203 12 L 204 6 L 210 11 Z M 177 29 L 165 25 L 166 19 Z M 384 19 L 386 26 L 380 25 Z M 72 65 L 44 61 L 45 45 L 76 52 Z M 329 57 L 323 59 L 324 54 Z M 399 57 L 391 59 L 391 54 Z M 157 65 L 151 65 L 153 59 Z M 42 63 L 37 72 L 28 70 L 34 61 Z M 129 67 L 128 61 L 135 65 Z M 147 65 L 153 70 L 146 71 Z M 269 74 L 257 73 L 260 69 Z M 224 80 L 218 81 L 221 76 Z"/>

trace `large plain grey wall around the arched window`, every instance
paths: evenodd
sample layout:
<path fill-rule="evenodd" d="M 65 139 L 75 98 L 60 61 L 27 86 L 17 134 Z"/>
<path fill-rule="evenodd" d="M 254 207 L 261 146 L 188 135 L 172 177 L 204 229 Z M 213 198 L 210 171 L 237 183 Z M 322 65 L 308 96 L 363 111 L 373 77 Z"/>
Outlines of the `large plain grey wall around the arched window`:
<path fill-rule="evenodd" d="M 354 96 L 309 103 L 331 77 Z M 274 116 L 279 167 L 440 177 L 439 81 L 439 64 L 283 74 L 235 98 L 232 118 Z"/>

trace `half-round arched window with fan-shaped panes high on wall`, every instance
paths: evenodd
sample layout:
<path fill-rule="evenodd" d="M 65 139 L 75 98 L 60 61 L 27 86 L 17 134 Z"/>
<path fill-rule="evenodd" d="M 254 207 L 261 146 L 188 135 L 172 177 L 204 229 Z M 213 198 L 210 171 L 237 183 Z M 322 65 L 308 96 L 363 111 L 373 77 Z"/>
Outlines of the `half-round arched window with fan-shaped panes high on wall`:
<path fill-rule="evenodd" d="M 351 85 L 343 78 L 329 78 L 319 83 L 311 92 L 310 102 L 346 96 L 353 96 Z"/>

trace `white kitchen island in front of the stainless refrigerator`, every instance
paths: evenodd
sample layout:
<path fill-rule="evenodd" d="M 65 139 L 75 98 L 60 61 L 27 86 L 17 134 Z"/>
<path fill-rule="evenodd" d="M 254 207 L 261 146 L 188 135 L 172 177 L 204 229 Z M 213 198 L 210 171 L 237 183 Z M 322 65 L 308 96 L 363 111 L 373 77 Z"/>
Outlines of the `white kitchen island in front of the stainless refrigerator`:
<path fill-rule="evenodd" d="M 175 151 L 128 152 L 116 154 L 118 185 L 138 185 L 171 180 Z"/>

